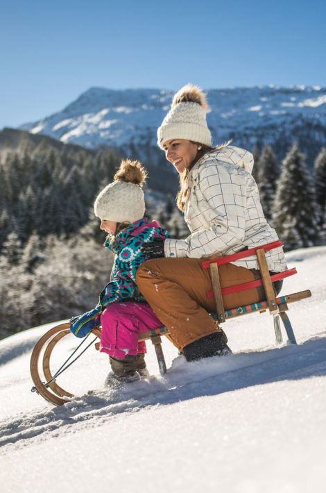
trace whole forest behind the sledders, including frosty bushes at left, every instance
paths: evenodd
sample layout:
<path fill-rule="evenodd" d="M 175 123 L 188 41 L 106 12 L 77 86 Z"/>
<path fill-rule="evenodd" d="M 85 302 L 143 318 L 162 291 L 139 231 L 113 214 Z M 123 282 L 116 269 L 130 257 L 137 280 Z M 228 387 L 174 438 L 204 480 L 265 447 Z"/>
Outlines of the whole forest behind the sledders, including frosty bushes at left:
<path fill-rule="evenodd" d="M 326 149 L 312 174 L 296 142 L 282 162 L 269 144 L 253 153 L 261 204 L 285 249 L 326 244 Z M 108 148 L 58 145 L 47 137 L 35 142 L 24 134 L 0 145 L 0 337 L 97 303 L 113 258 L 101 247 L 92 206 L 120 160 Z M 189 233 L 174 193 L 149 187 L 145 197 L 149 218 L 173 237 Z"/>

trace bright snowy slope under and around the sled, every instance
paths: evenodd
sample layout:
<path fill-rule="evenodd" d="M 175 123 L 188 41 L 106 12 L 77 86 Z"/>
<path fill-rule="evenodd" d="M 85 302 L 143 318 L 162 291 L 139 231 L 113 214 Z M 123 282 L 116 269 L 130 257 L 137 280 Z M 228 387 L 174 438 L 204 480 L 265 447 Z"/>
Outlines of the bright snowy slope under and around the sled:
<path fill-rule="evenodd" d="M 326 247 L 286 257 L 298 275 L 282 294 L 312 292 L 289 305 L 298 346 L 275 345 L 267 313 L 239 317 L 224 325 L 232 356 L 187 363 L 164 340 L 162 378 L 148 344 L 153 376 L 119 392 L 103 388 L 107 356 L 90 348 L 60 380 L 76 396 L 55 408 L 30 392 L 29 360 L 62 321 L 1 340 L 1 492 L 322 491 Z M 66 339 L 64 355 L 78 343 Z"/>

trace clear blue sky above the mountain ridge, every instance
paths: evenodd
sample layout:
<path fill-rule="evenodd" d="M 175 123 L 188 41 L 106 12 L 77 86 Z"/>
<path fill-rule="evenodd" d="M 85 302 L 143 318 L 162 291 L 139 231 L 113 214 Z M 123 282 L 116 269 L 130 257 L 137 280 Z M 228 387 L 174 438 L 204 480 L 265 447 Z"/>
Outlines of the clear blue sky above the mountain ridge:
<path fill-rule="evenodd" d="M 0 0 L 0 129 L 89 87 L 326 86 L 324 0 Z"/>

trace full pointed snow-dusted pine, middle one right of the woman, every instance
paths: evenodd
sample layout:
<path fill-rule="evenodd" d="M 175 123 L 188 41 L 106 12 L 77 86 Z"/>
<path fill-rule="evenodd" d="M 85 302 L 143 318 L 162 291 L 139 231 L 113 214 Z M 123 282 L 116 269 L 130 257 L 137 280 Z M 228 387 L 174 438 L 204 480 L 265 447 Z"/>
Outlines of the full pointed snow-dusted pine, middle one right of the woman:
<path fill-rule="evenodd" d="M 273 226 L 286 250 L 318 244 L 318 210 L 313 182 L 297 142 L 282 162 L 273 203 Z"/>

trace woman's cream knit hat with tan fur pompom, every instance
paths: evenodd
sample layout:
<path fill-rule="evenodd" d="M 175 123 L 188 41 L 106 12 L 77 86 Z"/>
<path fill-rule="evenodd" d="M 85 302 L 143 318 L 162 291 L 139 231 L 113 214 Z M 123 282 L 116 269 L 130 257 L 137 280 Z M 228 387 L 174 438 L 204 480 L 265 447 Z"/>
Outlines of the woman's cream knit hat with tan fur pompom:
<path fill-rule="evenodd" d="M 167 140 L 187 139 L 212 146 L 206 122 L 205 94 L 196 85 L 187 84 L 173 97 L 171 110 L 157 129 L 157 145 L 164 150 Z"/>

